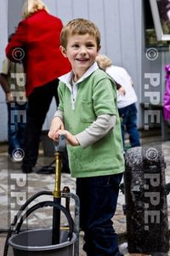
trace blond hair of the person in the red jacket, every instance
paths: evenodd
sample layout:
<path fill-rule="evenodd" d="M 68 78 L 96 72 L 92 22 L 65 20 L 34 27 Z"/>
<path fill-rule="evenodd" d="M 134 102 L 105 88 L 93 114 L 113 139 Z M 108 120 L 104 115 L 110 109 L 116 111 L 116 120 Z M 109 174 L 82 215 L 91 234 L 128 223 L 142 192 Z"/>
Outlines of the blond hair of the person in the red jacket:
<path fill-rule="evenodd" d="M 26 0 L 22 8 L 22 18 L 26 19 L 41 9 L 48 12 L 48 8 L 42 0 Z"/>

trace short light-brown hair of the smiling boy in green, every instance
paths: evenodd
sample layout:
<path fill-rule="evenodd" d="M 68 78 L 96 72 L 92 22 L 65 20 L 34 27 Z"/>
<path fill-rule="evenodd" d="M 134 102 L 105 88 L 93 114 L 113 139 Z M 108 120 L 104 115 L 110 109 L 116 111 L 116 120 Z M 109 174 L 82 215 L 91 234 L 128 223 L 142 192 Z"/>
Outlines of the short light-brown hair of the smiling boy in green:
<path fill-rule="evenodd" d="M 66 49 L 68 38 L 74 35 L 89 34 L 96 38 L 98 49 L 100 48 L 100 32 L 94 22 L 85 19 L 75 19 L 69 21 L 62 29 L 60 34 L 60 43 Z"/>

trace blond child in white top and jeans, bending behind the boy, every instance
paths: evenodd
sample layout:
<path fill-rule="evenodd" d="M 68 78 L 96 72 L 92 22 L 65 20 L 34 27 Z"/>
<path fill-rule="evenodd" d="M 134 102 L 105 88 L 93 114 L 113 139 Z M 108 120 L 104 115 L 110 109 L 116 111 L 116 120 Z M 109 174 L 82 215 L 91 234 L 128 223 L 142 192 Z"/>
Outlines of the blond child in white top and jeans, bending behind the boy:
<path fill-rule="evenodd" d="M 116 67 L 112 64 L 110 58 L 105 55 L 98 55 L 96 61 L 99 67 L 105 70 L 117 84 L 121 84 L 125 90 L 125 94 L 122 94 L 120 90 L 117 90 L 117 106 L 119 115 L 121 118 L 122 128 L 122 142 L 125 148 L 125 131 L 129 135 L 129 142 L 131 148 L 139 147 L 139 131 L 137 129 L 137 108 L 135 102 L 138 98 L 133 88 L 133 81 L 125 68 Z"/>

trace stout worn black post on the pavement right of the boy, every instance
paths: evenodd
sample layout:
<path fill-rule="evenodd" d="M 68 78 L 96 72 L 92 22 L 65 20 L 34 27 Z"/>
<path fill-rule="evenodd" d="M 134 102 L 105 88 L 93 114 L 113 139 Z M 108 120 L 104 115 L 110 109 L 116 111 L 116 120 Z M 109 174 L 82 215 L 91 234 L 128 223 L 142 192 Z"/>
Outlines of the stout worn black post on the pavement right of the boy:
<path fill-rule="evenodd" d="M 161 147 L 130 148 L 125 160 L 128 253 L 167 253 L 167 193 Z"/>

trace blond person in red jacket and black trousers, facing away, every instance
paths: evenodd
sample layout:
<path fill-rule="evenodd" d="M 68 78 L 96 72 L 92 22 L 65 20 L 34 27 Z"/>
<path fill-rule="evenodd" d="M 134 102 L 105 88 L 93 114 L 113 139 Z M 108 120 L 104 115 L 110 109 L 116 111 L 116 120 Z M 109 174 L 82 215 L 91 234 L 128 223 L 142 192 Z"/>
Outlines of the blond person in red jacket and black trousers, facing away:
<path fill-rule="evenodd" d="M 6 55 L 11 61 L 22 61 L 25 67 L 28 108 L 22 171 L 29 173 L 37 163 L 42 125 L 53 96 L 59 103 L 58 77 L 71 66 L 59 50 L 62 21 L 48 13 L 42 0 L 26 0 L 22 16 Z"/>

